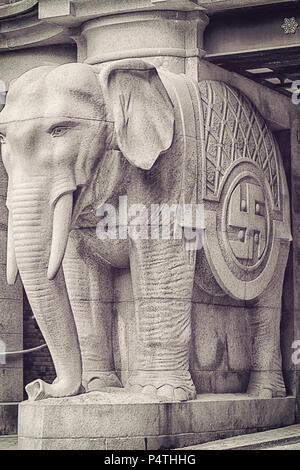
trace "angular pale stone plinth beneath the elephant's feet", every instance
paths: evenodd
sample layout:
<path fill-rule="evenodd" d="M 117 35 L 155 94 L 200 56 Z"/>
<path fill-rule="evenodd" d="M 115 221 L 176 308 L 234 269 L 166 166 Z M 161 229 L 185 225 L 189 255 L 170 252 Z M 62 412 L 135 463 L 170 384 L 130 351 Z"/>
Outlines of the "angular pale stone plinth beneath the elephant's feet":
<path fill-rule="evenodd" d="M 295 398 L 203 394 L 166 403 L 123 389 L 19 405 L 19 448 L 155 450 L 185 447 L 295 422 Z"/>

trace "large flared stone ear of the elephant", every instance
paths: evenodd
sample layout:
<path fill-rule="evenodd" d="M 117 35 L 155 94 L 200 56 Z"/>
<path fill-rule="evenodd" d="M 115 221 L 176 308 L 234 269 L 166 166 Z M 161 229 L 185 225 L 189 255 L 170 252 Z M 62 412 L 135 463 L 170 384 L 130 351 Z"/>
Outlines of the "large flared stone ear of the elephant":
<path fill-rule="evenodd" d="M 130 163 L 149 170 L 174 135 L 174 108 L 156 68 L 119 60 L 104 67 L 99 80 L 118 149 Z"/>

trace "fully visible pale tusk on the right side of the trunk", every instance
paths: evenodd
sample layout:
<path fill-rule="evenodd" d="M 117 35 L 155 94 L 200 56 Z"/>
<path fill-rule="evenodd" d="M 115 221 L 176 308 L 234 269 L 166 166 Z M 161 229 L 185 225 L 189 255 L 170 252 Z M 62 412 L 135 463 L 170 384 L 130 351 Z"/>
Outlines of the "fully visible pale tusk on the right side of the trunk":
<path fill-rule="evenodd" d="M 52 281 L 65 255 L 73 210 L 73 194 L 64 194 L 56 202 L 53 214 L 52 244 L 47 277 Z"/>

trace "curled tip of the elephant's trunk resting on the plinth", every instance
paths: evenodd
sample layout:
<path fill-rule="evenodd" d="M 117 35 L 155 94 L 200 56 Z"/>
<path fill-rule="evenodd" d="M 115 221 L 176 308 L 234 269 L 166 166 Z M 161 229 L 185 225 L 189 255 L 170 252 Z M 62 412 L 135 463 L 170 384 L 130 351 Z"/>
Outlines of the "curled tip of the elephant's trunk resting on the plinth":
<path fill-rule="evenodd" d="M 81 384 L 73 384 L 63 380 L 55 380 L 48 384 L 41 379 L 34 380 L 25 387 L 29 401 L 44 400 L 45 398 L 63 398 L 84 393 Z"/>

